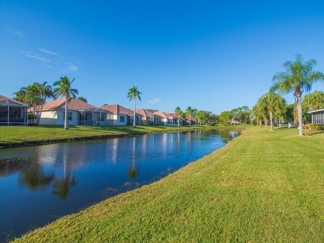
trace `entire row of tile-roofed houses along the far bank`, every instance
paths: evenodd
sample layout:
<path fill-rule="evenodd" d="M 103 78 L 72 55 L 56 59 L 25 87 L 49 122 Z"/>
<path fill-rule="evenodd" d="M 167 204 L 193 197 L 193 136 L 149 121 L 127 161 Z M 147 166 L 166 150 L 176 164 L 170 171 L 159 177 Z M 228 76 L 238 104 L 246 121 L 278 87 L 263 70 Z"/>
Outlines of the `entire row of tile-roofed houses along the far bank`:
<path fill-rule="evenodd" d="M 54 100 L 43 106 L 40 125 L 64 125 L 65 99 Z M 78 99 L 71 99 L 68 103 L 69 125 L 83 126 L 126 126 L 133 125 L 134 109 L 121 105 L 103 105 L 96 107 Z M 178 116 L 175 113 L 146 109 L 136 109 L 136 125 L 144 126 L 178 126 Z M 191 125 L 196 124 L 194 117 L 190 117 Z M 27 106 L 11 98 L 0 95 L 0 125 L 27 125 Z M 189 125 L 189 117 L 181 119 L 180 125 Z"/>

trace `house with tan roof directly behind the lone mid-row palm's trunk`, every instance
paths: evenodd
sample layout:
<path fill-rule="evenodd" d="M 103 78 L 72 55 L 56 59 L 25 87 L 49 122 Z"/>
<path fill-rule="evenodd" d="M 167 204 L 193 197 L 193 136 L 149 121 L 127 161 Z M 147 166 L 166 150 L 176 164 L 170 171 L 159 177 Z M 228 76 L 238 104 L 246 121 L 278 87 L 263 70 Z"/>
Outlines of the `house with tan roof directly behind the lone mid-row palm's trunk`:
<path fill-rule="evenodd" d="M 130 110 L 121 105 L 103 105 L 100 109 L 109 111 L 107 114 L 109 120 L 113 121 L 115 126 L 127 126 L 134 123 L 134 110 Z M 136 113 L 136 125 L 143 125 L 142 115 Z"/>

